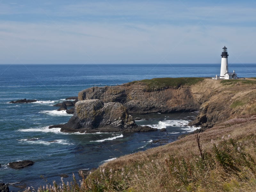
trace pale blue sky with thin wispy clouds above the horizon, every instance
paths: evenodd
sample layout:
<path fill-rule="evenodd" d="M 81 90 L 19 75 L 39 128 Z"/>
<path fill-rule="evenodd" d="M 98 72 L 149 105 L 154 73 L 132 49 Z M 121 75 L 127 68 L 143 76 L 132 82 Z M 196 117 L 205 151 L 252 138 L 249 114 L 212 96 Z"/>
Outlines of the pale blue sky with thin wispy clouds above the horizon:
<path fill-rule="evenodd" d="M 255 63 L 256 0 L 0 0 L 0 64 Z"/>

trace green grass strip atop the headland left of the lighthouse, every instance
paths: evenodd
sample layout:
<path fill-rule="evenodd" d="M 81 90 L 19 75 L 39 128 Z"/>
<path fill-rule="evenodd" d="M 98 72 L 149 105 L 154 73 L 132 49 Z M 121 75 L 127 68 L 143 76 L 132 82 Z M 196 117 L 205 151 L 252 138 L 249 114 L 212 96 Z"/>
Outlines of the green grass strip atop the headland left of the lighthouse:
<path fill-rule="evenodd" d="M 153 79 L 144 79 L 140 81 L 132 81 L 128 83 L 131 84 L 145 84 L 146 91 L 151 91 L 152 88 L 174 88 L 177 89 L 180 86 L 183 85 L 193 85 L 197 84 L 200 81 L 203 81 L 204 78 L 201 77 L 179 77 L 179 78 L 171 78 L 171 77 L 165 77 L 165 78 L 153 78 Z"/>

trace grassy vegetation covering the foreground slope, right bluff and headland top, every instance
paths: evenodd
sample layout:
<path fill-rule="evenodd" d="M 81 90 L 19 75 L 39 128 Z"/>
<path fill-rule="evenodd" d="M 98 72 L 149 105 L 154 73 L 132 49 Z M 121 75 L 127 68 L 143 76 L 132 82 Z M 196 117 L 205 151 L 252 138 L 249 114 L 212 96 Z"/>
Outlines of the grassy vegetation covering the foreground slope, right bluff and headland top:
<path fill-rule="evenodd" d="M 181 93 L 189 93 L 190 97 L 184 97 L 184 100 L 201 103 L 199 114 L 192 123 L 207 127 L 204 132 L 186 135 L 161 147 L 121 156 L 102 164 L 80 181 L 73 177 L 70 183 L 53 183 L 26 191 L 254 191 L 255 79 L 188 79 L 172 81 L 172 78 L 157 78 L 129 84 L 141 82 L 147 86 L 160 86 L 165 82 L 165 86 L 175 89 L 167 93 L 174 95 L 177 92 L 178 99 Z M 177 90 L 179 87 L 181 90 Z M 187 91 L 179 92 L 183 88 Z"/>

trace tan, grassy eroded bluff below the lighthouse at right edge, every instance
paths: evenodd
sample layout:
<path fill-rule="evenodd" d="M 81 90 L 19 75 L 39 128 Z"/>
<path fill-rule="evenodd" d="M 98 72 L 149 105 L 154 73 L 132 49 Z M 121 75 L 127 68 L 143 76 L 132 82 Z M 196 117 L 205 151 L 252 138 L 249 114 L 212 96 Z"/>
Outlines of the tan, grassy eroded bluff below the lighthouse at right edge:
<path fill-rule="evenodd" d="M 231 118 L 256 113 L 256 81 L 253 78 L 244 80 L 207 80 L 202 97 L 208 98 L 200 106 L 196 119 L 189 125 L 211 128 Z M 212 91 L 208 87 L 212 85 Z M 196 85 L 198 86 L 198 85 Z M 209 97 L 205 95 L 207 93 Z"/>

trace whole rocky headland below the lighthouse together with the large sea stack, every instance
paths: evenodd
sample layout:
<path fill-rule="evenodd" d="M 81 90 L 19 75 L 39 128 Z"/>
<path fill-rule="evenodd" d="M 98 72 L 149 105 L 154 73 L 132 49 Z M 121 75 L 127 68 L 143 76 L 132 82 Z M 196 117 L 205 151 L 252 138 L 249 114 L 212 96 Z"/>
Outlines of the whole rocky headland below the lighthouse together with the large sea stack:
<path fill-rule="evenodd" d="M 189 125 L 201 126 L 204 130 L 230 118 L 256 113 L 255 89 L 254 78 L 212 80 L 192 77 L 154 78 L 117 86 L 91 87 L 79 92 L 74 116 L 61 125 L 61 130 L 146 131 L 150 129 L 136 127 L 130 114 L 191 111 L 199 113 Z"/>

